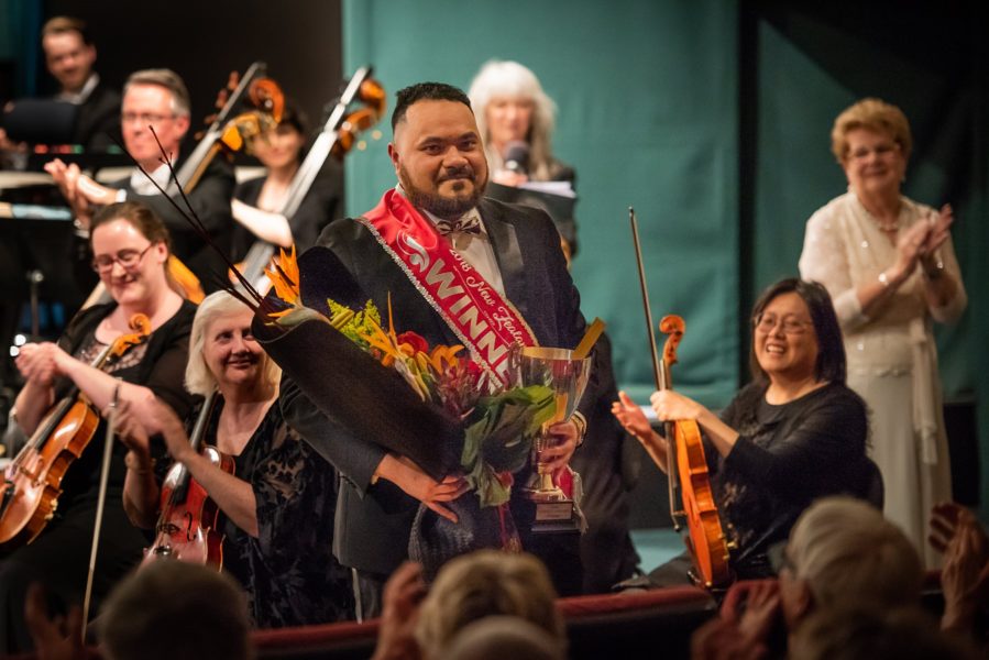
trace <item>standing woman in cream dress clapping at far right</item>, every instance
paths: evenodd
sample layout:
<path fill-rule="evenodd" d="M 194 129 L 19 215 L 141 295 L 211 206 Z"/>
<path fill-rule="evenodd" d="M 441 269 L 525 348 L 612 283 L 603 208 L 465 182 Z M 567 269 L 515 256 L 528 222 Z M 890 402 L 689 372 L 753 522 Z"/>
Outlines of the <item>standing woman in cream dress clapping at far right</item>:
<path fill-rule="evenodd" d="M 935 568 L 927 513 L 952 498 L 952 481 L 932 321 L 957 320 L 967 297 L 952 207 L 935 210 L 901 194 L 911 146 L 895 106 L 864 99 L 838 116 L 832 152 L 848 191 L 807 221 L 800 273 L 834 298 L 848 386 L 871 410 L 886 516 Z"/>

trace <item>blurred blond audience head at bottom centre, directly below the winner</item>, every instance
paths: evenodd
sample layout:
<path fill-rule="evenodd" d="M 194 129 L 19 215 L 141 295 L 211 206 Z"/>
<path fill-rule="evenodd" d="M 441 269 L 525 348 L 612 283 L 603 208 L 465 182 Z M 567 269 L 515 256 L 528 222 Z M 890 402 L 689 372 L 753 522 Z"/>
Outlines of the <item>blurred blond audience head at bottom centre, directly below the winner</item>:
<path fill-rule="evenodd" d="M 493 615 L 525 619 L 564 640 L 563 619 L 549 572 L 531 554 L 480 550 L 447 563 L 422 602 L 416 640 L 426 658 L 442 649 L 468 624 Z"/>

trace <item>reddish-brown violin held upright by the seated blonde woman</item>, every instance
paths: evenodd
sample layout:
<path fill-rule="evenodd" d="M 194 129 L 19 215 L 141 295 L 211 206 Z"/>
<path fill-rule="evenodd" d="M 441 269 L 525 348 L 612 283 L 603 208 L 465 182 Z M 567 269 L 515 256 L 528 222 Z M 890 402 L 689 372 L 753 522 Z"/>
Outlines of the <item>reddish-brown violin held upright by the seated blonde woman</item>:
<path fill-rule="evenodd" d="M 206 455 L 213 465 L 233 474 L 231 457 L 213 447 L 202 447 L 217 393 L 213 391 L 202 404 L 196 418 L 189 443 Z M 155 525 L 154 542 L 144 551 L 141 565 L 175 559 L 218 571 L 223 568 L 223 535 L 217 531 L 220 509 L 206 490 L 182 463 L 173 465 L 162 483 L 162 513 Z"/>

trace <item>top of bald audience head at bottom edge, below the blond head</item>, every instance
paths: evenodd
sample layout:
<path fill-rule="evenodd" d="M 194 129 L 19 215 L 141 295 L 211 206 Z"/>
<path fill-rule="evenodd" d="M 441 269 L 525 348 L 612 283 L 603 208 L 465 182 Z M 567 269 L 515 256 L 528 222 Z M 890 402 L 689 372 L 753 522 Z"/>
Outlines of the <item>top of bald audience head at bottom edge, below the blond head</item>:
<path fill-rule="evenodd" d="M 563 660 L 560 640 L 516 616 L 490 616 L 464 626 L 443 649 L 444 660 Z"/>

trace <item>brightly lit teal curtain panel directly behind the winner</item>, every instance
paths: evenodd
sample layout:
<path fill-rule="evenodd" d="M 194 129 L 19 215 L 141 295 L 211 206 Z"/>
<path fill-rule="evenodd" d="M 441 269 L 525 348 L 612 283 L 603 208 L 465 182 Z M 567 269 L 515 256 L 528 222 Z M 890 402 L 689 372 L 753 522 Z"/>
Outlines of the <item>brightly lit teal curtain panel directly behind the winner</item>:
<path fill-rule="evenodd" d="M 607 322 L 618 378 L 642 402 L 652 372 L 629 206 L 656 320 L 686 321 L 678 385 L 719 406 L 738 383 L 735 15 L 724 0 L 343 4 L 347 73 L 372 63 L 389 103 L 421 80 L 466 89 L 492 58 L 536 73 L 560 108 L 554 152 L 578 173 L 583 310 Z M 382 132 L 348 156 L 351 215 L 395 185 Z"/>

